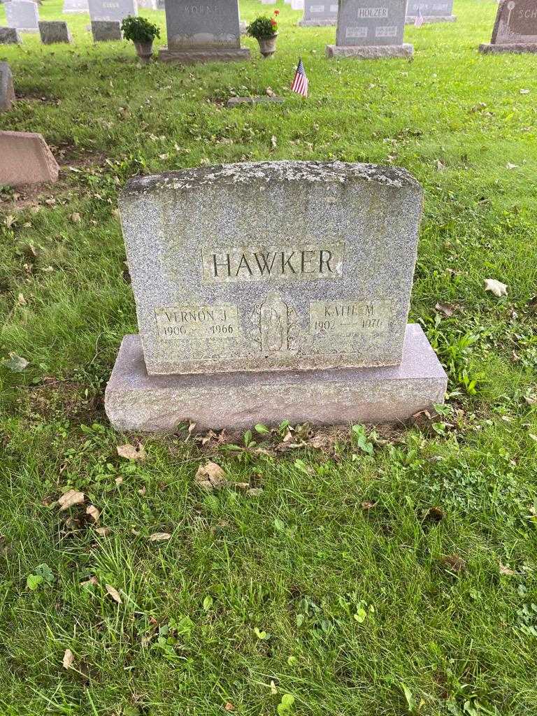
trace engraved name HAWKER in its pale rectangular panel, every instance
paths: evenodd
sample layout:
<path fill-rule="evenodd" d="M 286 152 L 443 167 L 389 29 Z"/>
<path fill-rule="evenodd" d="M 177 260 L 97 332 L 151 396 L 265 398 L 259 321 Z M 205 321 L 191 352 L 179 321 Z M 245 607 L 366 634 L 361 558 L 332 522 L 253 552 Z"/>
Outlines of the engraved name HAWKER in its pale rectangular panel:
<path fill-rule="evenodd" d="M 203 248 L 203 281 L 341 279 L 343 243 Z"/>

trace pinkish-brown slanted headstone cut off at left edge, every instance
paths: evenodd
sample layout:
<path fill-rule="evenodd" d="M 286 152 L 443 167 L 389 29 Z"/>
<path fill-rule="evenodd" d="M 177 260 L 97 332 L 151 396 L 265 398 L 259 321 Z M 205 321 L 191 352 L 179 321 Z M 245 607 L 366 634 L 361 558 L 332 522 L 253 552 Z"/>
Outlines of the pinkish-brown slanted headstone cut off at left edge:
<path fill-rule="evenodd" d="M 43 135 L 0 132 L 0 184 L 19 186 L 58 180 L 59 167 Z"/>

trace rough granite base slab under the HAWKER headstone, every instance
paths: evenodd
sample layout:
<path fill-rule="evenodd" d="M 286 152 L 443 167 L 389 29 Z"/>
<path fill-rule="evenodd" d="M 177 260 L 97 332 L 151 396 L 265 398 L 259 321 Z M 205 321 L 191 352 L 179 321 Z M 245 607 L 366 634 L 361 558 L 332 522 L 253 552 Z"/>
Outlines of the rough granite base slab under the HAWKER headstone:
<path fill-rule="evenodd" d="M 410 324 L 402 362 L 382 368 L 149 376 L 140 337 L 125 336 L 105 392 L 117 430 L 173 432 L 311 422 L 404 422 L 444 400 L 448 377 L 421 326 Z"/>

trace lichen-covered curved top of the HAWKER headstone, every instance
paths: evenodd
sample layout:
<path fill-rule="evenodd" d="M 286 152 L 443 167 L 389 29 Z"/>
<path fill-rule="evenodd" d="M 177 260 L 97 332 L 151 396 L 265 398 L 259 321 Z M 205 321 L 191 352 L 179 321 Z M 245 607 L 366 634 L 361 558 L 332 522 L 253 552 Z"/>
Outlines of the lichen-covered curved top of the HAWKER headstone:
<path fill-rule="evenodd" d="M 130 179 L 124 194 L 146 193 L 155 190 L 189 190 L 211 185 L 241 185 L 271 183 L 338 183 L 374 182 L 390 188 L 414 188 L 420 184 L 406 169 L 377 164 L 347 162 L 243 162 L 212 167 L 183 169 Z"/>

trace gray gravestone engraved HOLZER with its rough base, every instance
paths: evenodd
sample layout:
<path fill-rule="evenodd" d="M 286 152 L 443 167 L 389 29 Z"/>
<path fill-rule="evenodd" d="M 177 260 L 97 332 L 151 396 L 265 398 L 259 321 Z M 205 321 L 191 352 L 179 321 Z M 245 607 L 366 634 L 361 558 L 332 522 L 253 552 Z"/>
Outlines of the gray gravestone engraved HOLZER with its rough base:
<path fill-rule="evenodd" d="M 407 0 L 339 0 L 336 44 L 327 57 L 410 57 L 403 43 Z"/>

